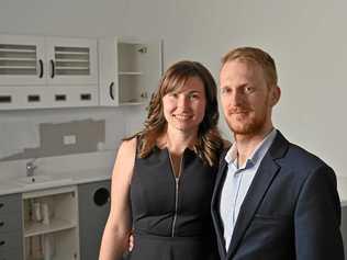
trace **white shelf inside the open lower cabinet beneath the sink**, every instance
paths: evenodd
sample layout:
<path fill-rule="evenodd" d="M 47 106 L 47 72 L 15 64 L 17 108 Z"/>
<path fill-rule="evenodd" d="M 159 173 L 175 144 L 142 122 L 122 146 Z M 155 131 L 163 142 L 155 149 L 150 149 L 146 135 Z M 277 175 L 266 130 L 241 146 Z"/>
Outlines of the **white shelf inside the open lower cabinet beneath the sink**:
<path fill-rule="evenodd" d="M 24 227 L 24 237 L 32 237 L 54 231 L 60 231 L 65 229 L 75 228 L 77 225 L 75 223 L 64 221 L 64 219 L 51 219 L 48 225 L 43 223 L 29 223 L 26 227 Z"/>

